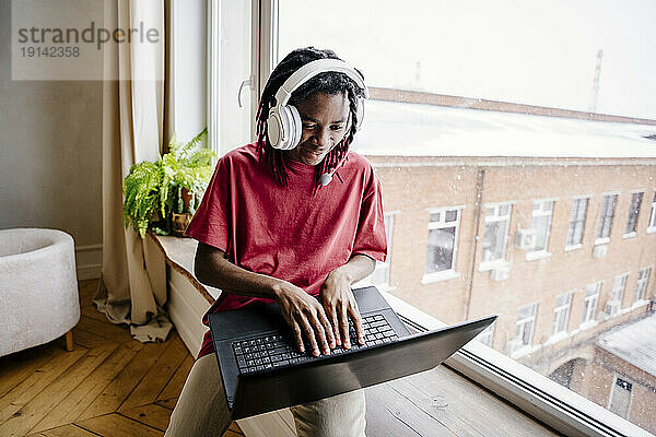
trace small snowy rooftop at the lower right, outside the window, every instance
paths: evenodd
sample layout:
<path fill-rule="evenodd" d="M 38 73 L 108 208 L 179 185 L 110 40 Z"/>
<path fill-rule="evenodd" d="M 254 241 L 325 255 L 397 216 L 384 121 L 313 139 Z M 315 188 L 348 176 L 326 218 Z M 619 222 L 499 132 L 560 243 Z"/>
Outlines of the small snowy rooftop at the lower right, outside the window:
<path fill-rule="evenodd" d="M 601 335 L 597 345 L 656 376 L 656 315 Z"/>

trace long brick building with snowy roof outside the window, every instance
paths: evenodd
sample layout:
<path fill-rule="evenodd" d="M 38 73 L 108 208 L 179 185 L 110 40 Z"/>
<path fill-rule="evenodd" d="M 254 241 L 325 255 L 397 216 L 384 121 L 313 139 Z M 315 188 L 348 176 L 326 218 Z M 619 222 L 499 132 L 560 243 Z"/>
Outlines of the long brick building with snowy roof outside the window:
<path fill-rule="evenodd" d="M 366 125 L 390 246 L 374 283 L 445 322 L 499 315 L 480 340 L 560 381 L 652 310 L 656 127 L 384 102 Z M 566 385 L 607 406 L 606 379 Z"/>

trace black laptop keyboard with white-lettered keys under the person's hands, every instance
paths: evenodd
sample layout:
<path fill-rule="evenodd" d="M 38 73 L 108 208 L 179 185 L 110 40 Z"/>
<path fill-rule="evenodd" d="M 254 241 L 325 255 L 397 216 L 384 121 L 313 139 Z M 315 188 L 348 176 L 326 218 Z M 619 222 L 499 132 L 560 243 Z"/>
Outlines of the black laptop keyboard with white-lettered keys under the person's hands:
<path fill-rule="evenodd" d="M 375 344 L 388 343 L 399 336 L 385 320 L 383 315 L 373 315 L 362 318 L 364 328 L 364 344 L 358 344 L 353 321 L 349 319 L 349 336 L 351 349 L 337 346 L 330 351 L 331 355 L 344 354 Z M 295 340 L 291 335 L 263 335 L 256 339 L 237 341 L 233 343 L 233 351 L 237 359 L 241 374 L 272 369 L 303 363 L 318 358 L 308 353 L 300 353 Z"/>

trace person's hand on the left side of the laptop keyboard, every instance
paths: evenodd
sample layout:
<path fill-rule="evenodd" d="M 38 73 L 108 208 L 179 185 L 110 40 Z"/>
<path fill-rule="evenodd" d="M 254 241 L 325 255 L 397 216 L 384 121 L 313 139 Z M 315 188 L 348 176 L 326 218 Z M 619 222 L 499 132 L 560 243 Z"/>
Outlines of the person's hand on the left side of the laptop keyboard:
<path fill-rule="evenodd" d="M 298 351 L 305 352 L 302 335 L 305 333 L 314 356 L 319 356 L 320 350 L 326 355 L 330 354 L 330 349 L 336 346 L 335 335 L 321 304 L 304 290 L 285 281 L 277 284 L 274 293 L 282 317 L 294 331 Z"/>

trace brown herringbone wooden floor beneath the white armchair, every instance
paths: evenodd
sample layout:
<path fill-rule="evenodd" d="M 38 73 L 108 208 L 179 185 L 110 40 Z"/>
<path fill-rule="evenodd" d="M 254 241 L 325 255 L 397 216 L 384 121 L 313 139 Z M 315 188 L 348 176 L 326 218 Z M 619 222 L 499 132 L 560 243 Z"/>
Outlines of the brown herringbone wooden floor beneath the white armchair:
<path fill-rule="evenodd" d="M 74 350 L 62 339 L 0 357 L 0 436 L 162 436 L 194 358 L 176 332 L 132 340 L 91 304 L 80 283 Z M 224 434 L 243 436 L 235 423 Z"/>

